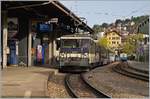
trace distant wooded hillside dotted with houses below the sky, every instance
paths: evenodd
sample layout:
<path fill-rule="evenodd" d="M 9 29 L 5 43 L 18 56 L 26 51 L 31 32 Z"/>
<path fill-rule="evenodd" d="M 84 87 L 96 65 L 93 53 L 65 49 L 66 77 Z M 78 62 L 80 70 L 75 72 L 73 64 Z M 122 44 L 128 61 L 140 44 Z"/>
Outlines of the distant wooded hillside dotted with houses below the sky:
<path fill-rule="evenodd" d="M 145 19 L 148 19 L 149 16 L 148 15 L 144 15 L 144 16 L 137 16 L 137 17 L 131 17 L 130 19 L 116 19 L 116 21 L 114 23 L 103 23 L 101 25 L 99 24 L 95 24 L 93 26 L 93 30 L 95 31 L 95 33 L 99 33 L 99 32 L 103 32 L 105 29 L 108 28 L 119 28 L 121 30 L 125 30 L 128 31 L 129 33 L 133 33 L 135 31 L 135 29 L 137 29 L 136 27 L 138 25 L 140 25 L 140 23 L 142 23 Z"/>

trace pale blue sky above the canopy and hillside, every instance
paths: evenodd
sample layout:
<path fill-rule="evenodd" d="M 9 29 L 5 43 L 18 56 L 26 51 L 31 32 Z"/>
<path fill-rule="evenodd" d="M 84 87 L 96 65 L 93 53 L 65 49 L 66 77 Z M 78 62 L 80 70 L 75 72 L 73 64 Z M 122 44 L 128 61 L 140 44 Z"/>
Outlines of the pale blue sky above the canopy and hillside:
<path fill-rule="evenodd" d="M 150 15 L 150 0 L 60 0 L 79 17 L 84 17 L 87 24 L 115 22 L 132 16 Z"/>

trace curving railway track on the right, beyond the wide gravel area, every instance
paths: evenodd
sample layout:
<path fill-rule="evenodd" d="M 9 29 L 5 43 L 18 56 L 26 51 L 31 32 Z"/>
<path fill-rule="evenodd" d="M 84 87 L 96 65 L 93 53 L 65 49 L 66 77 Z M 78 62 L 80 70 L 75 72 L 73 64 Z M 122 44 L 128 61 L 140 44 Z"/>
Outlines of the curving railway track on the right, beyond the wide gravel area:
<path fill-rule="evenodd" d="M 143 75 L 140 72 L 139 73 L 136 71 L 133 72 L 133 70 L 131 71 L 129 67 L 121 66 L 121 64 L 118 64 L 117 66 L 113 67 L 113 70 L 115 72 L 118 72 L 118 73 L 123 74 L 123 75 L 128 76 L 128 77 L 132 77 L 132 78 L 140 79 L 140 80 L 144 80 L 144 81 L 149 81 L 148 76 Z"/>

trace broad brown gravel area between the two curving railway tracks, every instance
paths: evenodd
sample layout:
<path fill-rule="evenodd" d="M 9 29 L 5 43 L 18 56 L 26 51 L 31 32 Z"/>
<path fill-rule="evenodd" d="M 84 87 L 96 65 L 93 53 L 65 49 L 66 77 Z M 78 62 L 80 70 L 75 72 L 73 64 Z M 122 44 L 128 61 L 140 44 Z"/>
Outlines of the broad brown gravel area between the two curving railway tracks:
<path fill-rule="evenodd" d="M 96 68 L 84 75 L 94 87 L 112 98 L 145 98 L 149 96 L 149 82 L 133 79 L 112 70 L 118 63 Z"/>

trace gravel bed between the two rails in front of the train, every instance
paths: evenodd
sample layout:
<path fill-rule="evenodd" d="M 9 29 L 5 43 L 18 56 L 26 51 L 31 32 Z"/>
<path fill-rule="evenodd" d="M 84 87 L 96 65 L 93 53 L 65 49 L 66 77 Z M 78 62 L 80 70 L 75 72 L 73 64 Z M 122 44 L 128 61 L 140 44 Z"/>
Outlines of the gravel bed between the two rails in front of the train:
<path fill-rule="evenodd" d="M 81 80 L 79 74 L 71 75 L 69 78 L 69 83 L 71 84 L 71 87 L 73 88 L 74 92 L 80 98 L 96 98 L 95 94 L 93 94 L 93 92 L 91 92 L 91 90 L 87 88 L 87 86 Z"/>

